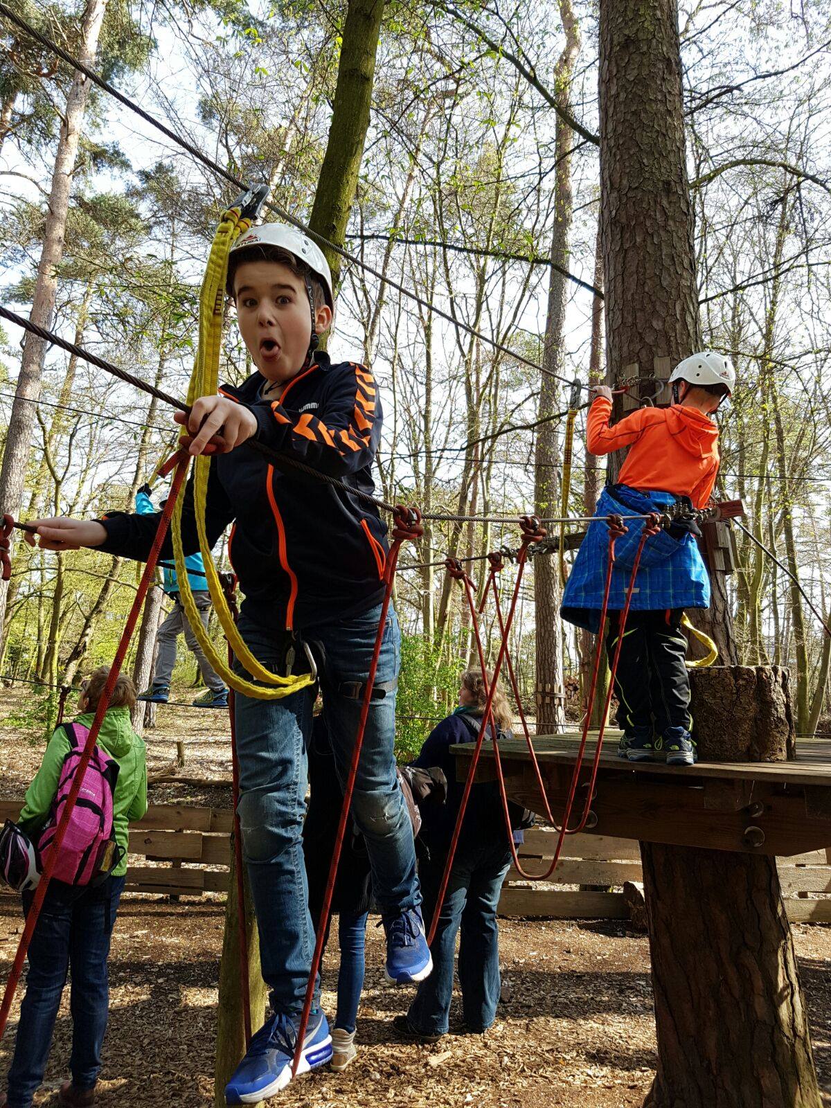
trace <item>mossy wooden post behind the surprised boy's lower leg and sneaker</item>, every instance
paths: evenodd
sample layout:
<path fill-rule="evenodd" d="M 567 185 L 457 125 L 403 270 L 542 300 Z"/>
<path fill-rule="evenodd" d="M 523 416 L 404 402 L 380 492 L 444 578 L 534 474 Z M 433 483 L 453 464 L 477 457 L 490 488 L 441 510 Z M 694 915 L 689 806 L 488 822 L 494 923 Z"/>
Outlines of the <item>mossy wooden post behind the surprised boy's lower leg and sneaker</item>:
<path fill-rule="evenodd" d="M 252 1005 L 252 1034 L 265 1020 L 267 988 L 259 972 L 259 937 L 254 917 L 254 901 L 245 880 L 245 911 L 248 920 L 248 989 Z M 228 897 L 225 902 L 225 933 L 219 962 L 219 1005 L 216 1024 L 216 1061 L 214 1065 L 214 1105 L 225 1108 L 225 1086 L 245 1054 L 245 1024 L 239 974 L 239 925 L 237 919 L 237 882 L 232 840 Z M 261 1106 L 260 1106 L 261 1108 Z"/>

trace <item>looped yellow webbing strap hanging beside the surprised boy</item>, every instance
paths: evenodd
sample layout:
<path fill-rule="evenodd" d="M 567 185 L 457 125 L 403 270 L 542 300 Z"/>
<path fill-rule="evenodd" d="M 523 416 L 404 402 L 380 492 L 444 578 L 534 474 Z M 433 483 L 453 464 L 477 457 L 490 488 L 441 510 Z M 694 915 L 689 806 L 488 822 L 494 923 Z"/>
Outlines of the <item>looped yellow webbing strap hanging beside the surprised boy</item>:
<path fill-rule="evenodd" d="M 228 252 L 238 235 L 245 234 L 250 227 L 250 219 L 240 217 L 239 208 L 233 207 L 223 214 L 222 222 L 214 235 L 211 246 L 205 277 L 199 294 L 199 343 L 196 352 L 191 383 L 187 389 L 187 403 L 193 404 L 199 397 L 215 396 L 219 383 L 219 351 L 222 346 L 223 307 L 225 304 L 225 279 L 228 270 Z M 234 623 L 228 602 L 223 592 L 211 546 L 205 531 L 205 511 L 207 505 L 207 481 L 211 459 L 204 454 L 194 459 L 194 514 L 196 531 L 199 537 L 199 552 L 205 564 L 205 576 L 214 609 L 219 618 L 225 637 L 248 673 L 273 688 L 263 688 L 237 676 L 229 667 L 225 652 L 217 650 L 212 643 L 199 618 L 196 602 L 191 592 L 191 583 L 185 567 L 185 554 L 182 546 L 182 504 L 183 497 L 176 501 L 176 507 L 171 521 L 171 535 L 176 562 L 179 598 L 187 615 L 187 620 L 194 635 L 205 652 L 211 665 L 230 688 L 245 696 L 258 700 L 277 700 L 291 693 L 297 693 L 312 684 L 311 674 L 299 677 L 284 677 L 274 674 L 259 663 L 243 640 Z"/>

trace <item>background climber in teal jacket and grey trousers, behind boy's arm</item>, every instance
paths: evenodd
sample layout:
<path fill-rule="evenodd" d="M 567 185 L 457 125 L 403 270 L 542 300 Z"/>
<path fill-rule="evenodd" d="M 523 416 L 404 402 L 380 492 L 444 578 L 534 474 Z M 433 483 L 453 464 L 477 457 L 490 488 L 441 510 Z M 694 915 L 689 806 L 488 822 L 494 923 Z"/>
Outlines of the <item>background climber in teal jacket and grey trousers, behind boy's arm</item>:
<path fill-rule="evenodd" d="M 164 501 L 163 501 L 164 503 Z M 152 515 L 156 509 L 151 500 L 150 485 L 142 485 L 136 493 L 135 510 L 138 515 Z M 173 601 L 173 608 L 162 620 L 156 636 L 156 664 L 153 669 L 153 681 L 148 689 L 145 689 L 138 697 L 140 700 L 148 700 L 151 704 L 167 704 L 171 691 L 171 678 L 173 667 L 176 665 L 176 642 L 184 633 L 191 653 L 196 658 L 196 663 L 202 674 L 202 679 L 207 686 L 206 690 L 197 696 L 193 701 L 195 708 L 227 708 L 228 690 L 222 677 L 216 673 L 205 653 L 199 646 L 199 640 L 193 633 L 193 628 L 187 620 L 187 615 L 178 595 L 178 578 L 176 568 L 172 562 L 160 562 L 163 572 L 162 588 Z M 199 609 L 199 617 L 203 626 L 207 628 L 211 616 L 211 594 L 207 591 L 205 578 L 205 565 L 201 554 L 188 554 L 185 558 L 187 568 L 187 583 L 191 586 L 196 607 Z"/>

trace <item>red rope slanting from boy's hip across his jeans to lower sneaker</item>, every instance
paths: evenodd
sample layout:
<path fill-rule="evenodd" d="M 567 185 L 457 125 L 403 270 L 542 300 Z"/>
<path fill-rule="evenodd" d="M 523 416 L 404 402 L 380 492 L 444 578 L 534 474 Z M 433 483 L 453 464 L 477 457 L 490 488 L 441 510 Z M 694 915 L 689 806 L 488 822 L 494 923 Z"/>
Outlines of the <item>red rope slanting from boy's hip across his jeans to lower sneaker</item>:
<path fill-rule="evenodd" d="M 392 597 L 392 588 L 396 581 L 396 565 L 398 563 L 399 551 L 401 550 L 401 544 L 408 538 L 418 538 L 421 536 L 422 527 L 420 526 L 421 516 L 414 509 L 402 507 L 398 505 L 396 507 L 394 515 L 394 527 L 392 531 L 392 545 L 390 546 L 390 552 L 387 555 L 387 566 L 384 570 L 384 584 L 386 591 L 383 594 L 383 601 L 381 602 L 381 615 L 378 620 L 378 632 L 376 633 L 375 647 L 372 649 L 372 659 L 369 664 L 369 673 L 367 675 L 367 684 L 363 690 L 363 701 L 361 704 L 361 714 L 358 720 L 358 730 L 355 736 L 355 748 L 352 749 L 352 760 L 349 766 L 349 776 L 347 777 L 346 786 L 343 788 L 343 804 L 340 809 L 340 822 L 338 823 L 338 831 L 335 837 L 335 850 L 332 852 L 331 862 L 329 864 L 329 876 L 326 882 L 326 889 L 324 891 L 324 901 L 320 907 L 320 921 L 318 923 L 317 936 L 315 941 L 315 953 L 311 958 L 311 968 L 309 972 L 309 981 L 306 986 L 306 998 L 302 1006 L 302 1015 L 300 1016 L 300 1026 L 297 1032 L 297 1045 L 295 1047 L 295 1057 L 291 1061 L 291 1076 L 293 1078 L 297 1076 L 297 1067 L 300 1064 L 300 1054 L 302 1053 L 302 1044 L 306 1037 L 306 1028 L 309 1023 L 309 1013 L 311 1012 L 311 1002 L 315 996 L 315 983 L 317 981 L 318 971 L 320 970 L 320 961 L 324 954 L 324 942 L 326 940 L 326 930 L 329 925 L 329 915 L 331 913 L 331 899 L 335 891 L 335 881 L 338 875 L 338 864 L 340 863 L 340 853 L 343 847 L 343 839 L 346 838 L 347 821 L 349 819 L 349 808 L 352 802 L 352 793 L 355 791 L 355 782 L 358 777 L 358 765 L 360 761 L 361 747 L 363 746 L 363 733 L 367 728 L 367 719 L 369 718 L 369 706 L 372 700 L 372 688 L 375 686 L 376 673 L 378 671 L 378 660 L 381 656 L 381 645 L 383 643 L 383 632 L 384 625 L 387 623 L 387 613 L 390 607 L 390 599 Z"/>

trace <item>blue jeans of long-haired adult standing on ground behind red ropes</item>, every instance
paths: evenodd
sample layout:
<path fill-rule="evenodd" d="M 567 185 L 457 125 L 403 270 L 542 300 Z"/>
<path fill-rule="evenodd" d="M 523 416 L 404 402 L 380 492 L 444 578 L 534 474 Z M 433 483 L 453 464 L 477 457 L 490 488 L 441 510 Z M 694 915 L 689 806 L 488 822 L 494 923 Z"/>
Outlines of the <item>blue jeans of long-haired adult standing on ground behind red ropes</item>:
<path fill-rule="evenodd" d="M 501 828 L 499 830 L 502 830 Z M 462 988 L 462 1018 L 472 1032 L 486 1030 L 496 1018 L 500 998 L 500 951 L 496 906 L 511 864 L 504 842 L 459 841 L 450 872 L 439 926 L 430 953 L 433 972 L 419 985 L 410 1005 L 410 1024 L 425 1035 L 444 1035 L 449 1027 L 453 996 L 453 955 L 459 943 L 459 984 Z M 421 869 L 424 922 L 430 926 L 444 859 L 439 854 Z"/>

